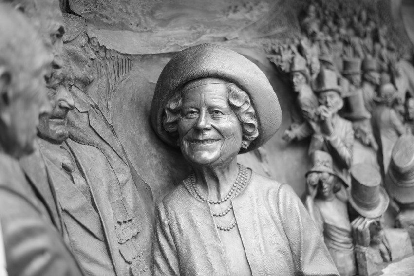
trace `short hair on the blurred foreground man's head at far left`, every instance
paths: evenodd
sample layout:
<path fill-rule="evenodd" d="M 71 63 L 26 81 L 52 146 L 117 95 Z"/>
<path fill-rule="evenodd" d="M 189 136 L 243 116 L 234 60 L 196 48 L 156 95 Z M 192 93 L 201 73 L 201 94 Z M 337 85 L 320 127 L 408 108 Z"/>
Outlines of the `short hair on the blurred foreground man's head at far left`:
<path fill-rule="evenodd" d="M 25 16 L 4 3 L 0 3 L 0 37 L 0 66 L 10 72 L 13 91 L 24 92 L 34 70 L 50 62 L 50 56 Z"/>

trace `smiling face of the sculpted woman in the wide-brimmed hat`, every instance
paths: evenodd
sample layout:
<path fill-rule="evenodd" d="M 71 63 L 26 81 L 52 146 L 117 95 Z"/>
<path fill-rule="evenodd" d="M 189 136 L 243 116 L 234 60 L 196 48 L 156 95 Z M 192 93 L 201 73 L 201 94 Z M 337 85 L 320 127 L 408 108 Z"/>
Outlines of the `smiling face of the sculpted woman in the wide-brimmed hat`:
<path fill-rule="evenodd" d="M 191 164 L 218 166 L 236 158 L 242 126 L 228 104 L 227 84 L 207 84 L 182 95 L 178 119 L 181 152 Z"/>

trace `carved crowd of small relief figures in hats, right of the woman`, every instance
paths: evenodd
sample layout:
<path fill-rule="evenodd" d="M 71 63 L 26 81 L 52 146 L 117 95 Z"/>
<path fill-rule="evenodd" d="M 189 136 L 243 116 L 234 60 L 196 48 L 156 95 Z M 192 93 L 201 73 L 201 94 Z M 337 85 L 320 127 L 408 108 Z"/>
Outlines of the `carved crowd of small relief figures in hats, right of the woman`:
<path fill-rule="evenodd" d="M 310 138 L 305 205 L 340 275 L 375 275 L 412 253 L 412 66 L 372 11 L 313 1 L 300 26 L 269 51 L 296 97 L 283 139 Z"/>

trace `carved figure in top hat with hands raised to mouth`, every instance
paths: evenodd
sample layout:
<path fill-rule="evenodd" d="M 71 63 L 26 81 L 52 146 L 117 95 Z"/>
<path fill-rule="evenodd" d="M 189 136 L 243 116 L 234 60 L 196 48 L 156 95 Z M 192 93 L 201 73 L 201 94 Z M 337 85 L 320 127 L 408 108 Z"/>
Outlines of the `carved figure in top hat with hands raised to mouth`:
<path fill-rule="evenodd" d="M 333 159 L 334 171 L 349 182 L 349 168 L 352 164 L 354 130 L 352 123 L 339 116 L 343 107 L 342 88 L 338 85 L 335 71 L 322 69 L 315 84 L 320 106 L 316 110 L 317 120 L 311 126 L 314 134 L 309 153 L 315 150 L 328 152 Z"/>

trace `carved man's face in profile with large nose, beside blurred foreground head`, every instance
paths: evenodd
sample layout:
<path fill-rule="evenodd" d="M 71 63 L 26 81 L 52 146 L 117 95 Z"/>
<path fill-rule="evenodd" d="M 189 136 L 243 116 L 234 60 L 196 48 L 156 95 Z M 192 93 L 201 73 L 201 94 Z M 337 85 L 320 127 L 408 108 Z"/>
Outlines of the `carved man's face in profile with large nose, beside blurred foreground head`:
<path fill-rule="evenodd" d="M 38 136 L 49 142 L 60 144 L 69 136 L 66 117 L 69 110 L 75 108 L 75 104 L 69 92 L 71 80 L 67 73 L 60 74 L 54 82 L 49 88 L 49 98 L 52 99 L 53 110 L 49 115 L 40 117 Z"/>

